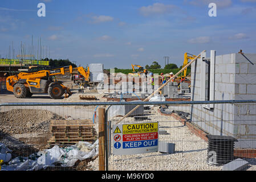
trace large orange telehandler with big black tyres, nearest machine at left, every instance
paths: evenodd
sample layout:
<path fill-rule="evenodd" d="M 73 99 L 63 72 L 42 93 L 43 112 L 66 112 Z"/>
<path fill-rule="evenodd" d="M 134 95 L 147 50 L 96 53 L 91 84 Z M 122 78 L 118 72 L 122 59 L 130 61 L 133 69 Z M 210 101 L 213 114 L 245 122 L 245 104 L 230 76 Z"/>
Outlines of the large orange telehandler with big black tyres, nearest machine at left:
<path fill-rule="evenodd" d="M 6 78 L 6 88 L 17 98 L 31 97 L 33 93 L 48 93 L 54 99 L 61 98 L 65 94 L 66 98 L 72 94 L 70 89 L 64 86 L 63 82 L 57 81 L 54 76 L 65 75 L 65 73 L 79 71 L 82 68 L 72 68 L 70 65 L 40 71 L 20 72 Z M 86 71 L 83 72 L 83 69 L 81 72 L 84 76 L 89 77 Z"/>

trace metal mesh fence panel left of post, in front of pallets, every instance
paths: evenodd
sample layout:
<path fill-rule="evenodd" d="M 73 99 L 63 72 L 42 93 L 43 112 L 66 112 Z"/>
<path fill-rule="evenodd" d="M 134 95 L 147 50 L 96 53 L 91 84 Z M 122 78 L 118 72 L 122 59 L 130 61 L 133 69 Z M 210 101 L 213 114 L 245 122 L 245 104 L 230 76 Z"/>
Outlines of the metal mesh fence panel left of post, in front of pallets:
<path fill-rule="evenodd" d="M 1 106 L 2 170 L 92 170 L 87 164 L 97 157 L 95 107 Z"/>

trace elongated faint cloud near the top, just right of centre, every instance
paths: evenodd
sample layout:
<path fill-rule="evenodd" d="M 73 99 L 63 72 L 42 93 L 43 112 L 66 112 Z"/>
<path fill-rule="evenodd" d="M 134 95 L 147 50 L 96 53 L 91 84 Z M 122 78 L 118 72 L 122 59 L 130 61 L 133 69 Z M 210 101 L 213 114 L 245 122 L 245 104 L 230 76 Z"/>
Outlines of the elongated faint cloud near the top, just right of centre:
<path fill-rule="evenodd" d="M 153 5 L 143 6 L 139 9 L 144 16 L 172 13 L 174 5 L 164 5 L 162 3 L 154 3 Z"/>

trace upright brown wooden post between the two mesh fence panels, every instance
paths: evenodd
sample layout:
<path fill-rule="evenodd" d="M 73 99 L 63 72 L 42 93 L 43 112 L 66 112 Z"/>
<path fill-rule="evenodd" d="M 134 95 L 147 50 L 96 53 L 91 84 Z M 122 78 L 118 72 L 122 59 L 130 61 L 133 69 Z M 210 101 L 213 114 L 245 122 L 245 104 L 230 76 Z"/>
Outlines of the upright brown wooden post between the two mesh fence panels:
<path fill-rule="evenodd" d="M 99 171 L 105 171 L 105 108 L 99 108 Z"/>

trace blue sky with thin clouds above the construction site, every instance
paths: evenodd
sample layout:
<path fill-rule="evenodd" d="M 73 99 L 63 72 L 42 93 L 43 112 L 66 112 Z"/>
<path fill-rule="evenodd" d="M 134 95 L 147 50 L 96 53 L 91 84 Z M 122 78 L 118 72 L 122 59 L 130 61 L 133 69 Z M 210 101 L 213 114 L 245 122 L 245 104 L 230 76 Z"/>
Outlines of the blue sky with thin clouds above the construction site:
<path fill-rule="evenodd" d="M 40 2 L 45 17 L 37 15 Z M 211 2 L 217 17 L 208 15 Z M 164 56 L 180 66 L 185 52 L 255 53 L 255 18 L 256 0 L 2 0 L 0 55 L 7 55 L 12 42 L 15 54 L 21 42 L 28 49 L 33 35 L 36 50 L 41 38 L 52 59 L 82 66 L 131 69 L 158 61 L 164 67 Z"/>

